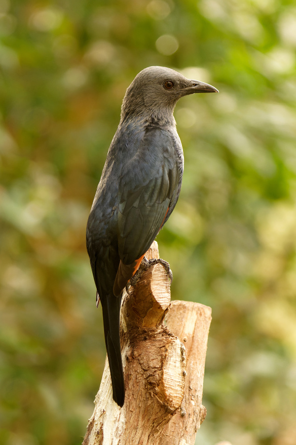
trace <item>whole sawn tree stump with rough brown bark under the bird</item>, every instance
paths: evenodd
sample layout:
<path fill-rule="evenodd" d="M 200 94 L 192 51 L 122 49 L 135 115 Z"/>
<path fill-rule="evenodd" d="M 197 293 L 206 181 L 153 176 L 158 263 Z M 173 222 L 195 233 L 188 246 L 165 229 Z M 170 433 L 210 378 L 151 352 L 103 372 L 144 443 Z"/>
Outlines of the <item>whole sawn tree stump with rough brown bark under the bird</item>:
<path fill-rule="evenodd" d="M 146 256 L 159 258 L 155 241 Z M 106 358 L 83 445 L 193 445 L 206 414 L 201 400 L 210 323 L 211 308 L 171 303 L 161 265 L 144 272 L 121 306 L 124 405 L 112 399 Z"/>

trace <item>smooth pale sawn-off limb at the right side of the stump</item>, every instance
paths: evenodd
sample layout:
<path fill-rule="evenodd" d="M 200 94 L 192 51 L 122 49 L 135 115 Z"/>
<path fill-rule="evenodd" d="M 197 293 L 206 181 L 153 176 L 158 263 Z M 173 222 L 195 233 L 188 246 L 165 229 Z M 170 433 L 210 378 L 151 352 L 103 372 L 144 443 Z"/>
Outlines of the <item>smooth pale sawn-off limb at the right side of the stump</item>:
<path fill-rule="evenodd" d="M 206 416 L 201 401 L 211 320 L 211 308 L 189 301 L 172 301 L 166 315 L 168 329 L 185 345 L 186 379 L 181 410 L 166 425 L 161 445 L 193 445 Z"/>

